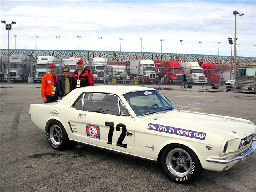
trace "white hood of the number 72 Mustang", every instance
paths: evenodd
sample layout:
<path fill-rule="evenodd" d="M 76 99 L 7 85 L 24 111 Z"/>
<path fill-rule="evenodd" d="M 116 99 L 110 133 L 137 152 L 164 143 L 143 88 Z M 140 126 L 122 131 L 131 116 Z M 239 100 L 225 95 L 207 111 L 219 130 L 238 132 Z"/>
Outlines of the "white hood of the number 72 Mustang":
<path fill-rule="evenodd" d="M 222 135 L 224 138 L 232 136 L 242 139 L 256 132 L 256 126 L 249 120 L 228 116 L 204 114 L 188 111 L 169 111 L 149 115 L 150 124 L 180 128 L 197 132 Z"/>

